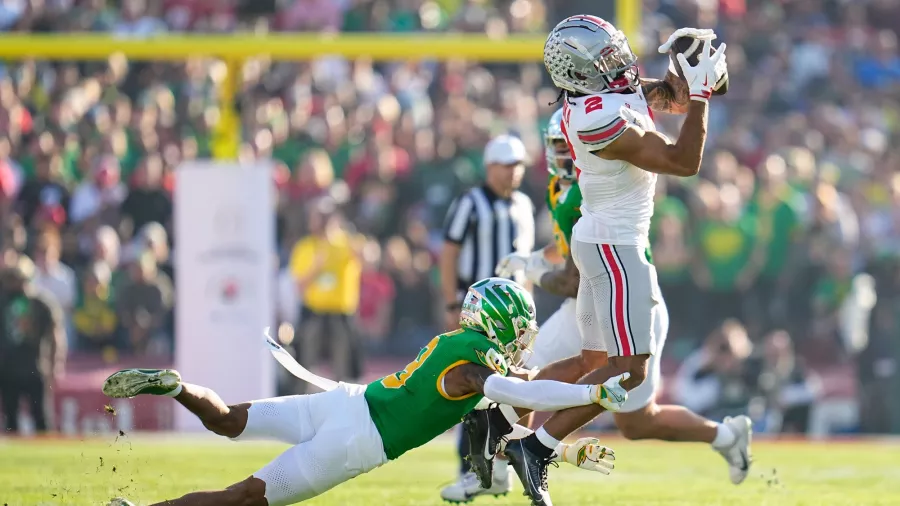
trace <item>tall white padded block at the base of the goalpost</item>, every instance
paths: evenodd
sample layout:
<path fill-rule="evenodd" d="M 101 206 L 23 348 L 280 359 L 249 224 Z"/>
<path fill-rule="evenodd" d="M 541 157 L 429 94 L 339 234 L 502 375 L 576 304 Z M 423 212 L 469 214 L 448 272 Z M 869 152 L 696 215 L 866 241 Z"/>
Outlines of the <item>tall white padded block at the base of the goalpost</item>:
<path fill-rule="evenodd" d="M 275 203 L 268 163 L 197 161 L 175 171 L 175 365 L 229 403 L 271 397 Z M 179 408 L 177 430 L 202 430 Z"/>

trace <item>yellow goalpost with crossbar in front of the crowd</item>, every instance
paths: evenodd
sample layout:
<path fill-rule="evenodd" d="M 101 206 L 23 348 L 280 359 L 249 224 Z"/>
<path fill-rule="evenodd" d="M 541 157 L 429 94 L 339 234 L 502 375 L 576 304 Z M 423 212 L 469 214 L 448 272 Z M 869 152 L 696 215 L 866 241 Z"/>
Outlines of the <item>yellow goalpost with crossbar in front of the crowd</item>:
<path fill-rule="evenodd" d="M 641 0 L 614 0 L 616 25 L 629 37 L 640 26 Z M 238 77 L 248 58 L 308 60 L 322 55 L 373 60 L 451 60 L 464 58 L 486 62 L 538 62 L 543 35 L 511 35 L 502 39 L 479 34 L 232 34 L 163 35 L 119 38 L 99 34 L 0 36 L 0 59 L 104 60 L 122 54 L 130 60 L 185 60 L 213 57 L 223 60 L 227 75 L 220 86 L 221 114 L 216 125 L 213 155 L 234 160 L 240 146 L 239 118 L 234 107 Z"/>

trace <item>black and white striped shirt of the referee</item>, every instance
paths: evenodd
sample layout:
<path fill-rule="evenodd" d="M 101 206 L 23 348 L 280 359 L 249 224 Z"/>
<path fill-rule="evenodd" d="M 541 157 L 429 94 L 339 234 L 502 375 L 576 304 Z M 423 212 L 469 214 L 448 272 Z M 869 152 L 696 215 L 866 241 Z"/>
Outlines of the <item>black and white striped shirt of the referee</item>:
<path fill-rule="evenodd" d="M 487 186 L 472 188 L 450 206 L 444 239 L 460 245 L 456 288 L 462 301 L 469 286 L 494 275 L 501 258 L 534 249 L 534 204 L 520 191 L 504 199 Z"/>

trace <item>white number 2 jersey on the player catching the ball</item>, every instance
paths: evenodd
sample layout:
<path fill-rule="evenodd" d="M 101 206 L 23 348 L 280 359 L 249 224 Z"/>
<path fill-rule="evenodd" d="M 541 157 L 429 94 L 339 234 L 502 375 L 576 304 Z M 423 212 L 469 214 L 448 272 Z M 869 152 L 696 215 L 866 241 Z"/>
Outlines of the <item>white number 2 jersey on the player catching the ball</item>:
<path fill-rule="evenodd" d="M 601 150 L 629 126 L 655 131 L 643 92 L 566 98 L 562 129 L 579 170 L 582 218 L 573 239 L 595 244 L 649 245 L 656 174 L 628 162 L 605 160 Z"/>

